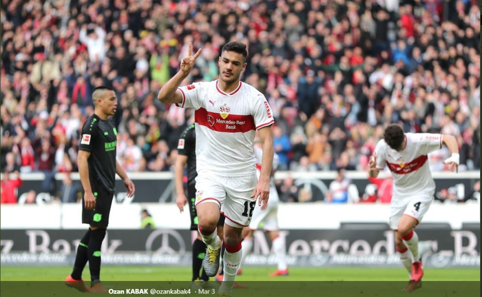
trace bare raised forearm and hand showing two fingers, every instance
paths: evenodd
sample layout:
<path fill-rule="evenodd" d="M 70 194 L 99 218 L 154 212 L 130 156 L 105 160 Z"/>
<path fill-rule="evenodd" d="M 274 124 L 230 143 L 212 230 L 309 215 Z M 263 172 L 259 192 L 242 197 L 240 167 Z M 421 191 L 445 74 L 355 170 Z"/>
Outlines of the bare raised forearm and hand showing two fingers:
<path fill-rule="evenodd" d="M 187 57 L 182 58 L 180 70 L 176 75 L 171 77 L 163 88 L 160 88 L 159 94 L 157 98 L 162 103 L 181 103 L 182 102 L 182 93 L 178 90 L 178 87 L 182 81 L 186 79 L 191 72 L 196 59 L 198 59 L 199 55 L 201 54 L 201 49 L 196 52 L 196 54 L 192 54 L 192 44 L 189 43 L 189 52 Z"/>

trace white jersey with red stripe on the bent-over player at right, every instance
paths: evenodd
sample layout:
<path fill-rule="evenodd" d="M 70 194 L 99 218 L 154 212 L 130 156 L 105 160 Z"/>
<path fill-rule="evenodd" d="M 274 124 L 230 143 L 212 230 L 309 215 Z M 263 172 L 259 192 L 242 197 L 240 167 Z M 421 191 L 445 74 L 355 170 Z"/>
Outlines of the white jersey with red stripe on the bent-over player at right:
<path fill-rule="evenodd" d="M 393 198 L 410 198 L 414 195 L 433 196 L 435 183 L 430 173 L 428 156 L 430 152 L 442 147 L 441 134 L 406 133 L 406 147 L 397 152 L 381 139 L 377 143 L 377 169 L 385 165 L 394 178 Z"/>

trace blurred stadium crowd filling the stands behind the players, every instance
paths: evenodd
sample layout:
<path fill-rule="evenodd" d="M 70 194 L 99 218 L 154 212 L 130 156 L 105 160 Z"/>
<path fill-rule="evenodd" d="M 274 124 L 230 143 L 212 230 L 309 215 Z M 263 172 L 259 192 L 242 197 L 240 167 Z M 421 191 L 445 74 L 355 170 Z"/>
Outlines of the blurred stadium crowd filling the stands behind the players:
<path fill-rule="evenodd" d="M 280 170 L 366 170 L 384 126 L 457 137 L 480 169 L 480 9 L 472 0 L 10 0 L 1 17 L 1 170 L 75 172 L 92 90 L 116 90 L 118 160 L 171 170 L 192 111 L 157 93 L 213 80 L 224 43 L 249 45 L 243 80 L 275 116 Z M 450 152 L 430 155 L 443 171 Z"/>

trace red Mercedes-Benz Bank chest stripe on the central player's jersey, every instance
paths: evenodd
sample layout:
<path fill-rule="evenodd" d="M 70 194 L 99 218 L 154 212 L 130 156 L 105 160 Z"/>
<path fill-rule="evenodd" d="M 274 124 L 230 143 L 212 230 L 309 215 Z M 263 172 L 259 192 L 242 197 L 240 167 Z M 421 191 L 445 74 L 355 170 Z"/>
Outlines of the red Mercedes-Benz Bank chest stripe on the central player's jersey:
<path fill-rule="evenodd" d="M 208 112 L 201 107 L 194 113 L 194 121 L 217 132 L 245 133 L 255 130 L 254 119 L 251 114 L 229 114 L 226 119 L 222 119 L 218 112 Z"/>

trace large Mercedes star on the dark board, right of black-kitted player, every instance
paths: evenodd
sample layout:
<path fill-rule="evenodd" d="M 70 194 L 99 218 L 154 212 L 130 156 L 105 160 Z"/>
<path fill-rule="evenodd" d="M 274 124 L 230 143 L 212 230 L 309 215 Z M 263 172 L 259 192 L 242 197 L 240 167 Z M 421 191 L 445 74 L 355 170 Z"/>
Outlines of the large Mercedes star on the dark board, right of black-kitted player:
<path fill-rule="evenodd" d="M 169 240 L 173 240 L 171 241 L 173 244 L 169 244 Z M 186 252 L 186 245 L 178 232 L 168 229 L 157 229 L 147 237 L 145 250 L 159 254 L 182 254 Z"/>

